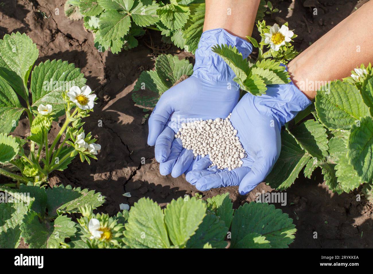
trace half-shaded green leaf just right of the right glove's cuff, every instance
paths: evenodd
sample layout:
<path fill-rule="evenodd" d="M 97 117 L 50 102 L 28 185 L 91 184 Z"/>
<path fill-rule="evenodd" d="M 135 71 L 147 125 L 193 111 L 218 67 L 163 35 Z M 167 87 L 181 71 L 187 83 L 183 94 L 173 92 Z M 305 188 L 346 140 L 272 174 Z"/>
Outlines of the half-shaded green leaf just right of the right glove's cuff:
<path fill-rule="evenodd" d="M 329 149 L 326 129 L 319 122 L 307 120 L 291 131 L 301 145 L 312 157 L 322 160 Z"/>

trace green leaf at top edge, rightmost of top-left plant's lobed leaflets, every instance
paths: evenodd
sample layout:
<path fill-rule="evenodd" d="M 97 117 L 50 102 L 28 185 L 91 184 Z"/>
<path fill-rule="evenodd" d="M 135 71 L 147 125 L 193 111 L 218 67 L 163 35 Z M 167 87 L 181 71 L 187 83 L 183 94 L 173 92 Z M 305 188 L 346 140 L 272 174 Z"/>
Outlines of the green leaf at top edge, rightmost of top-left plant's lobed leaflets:
<path fill-rule="evenodd" d="M 150 26 L 159 19 L 157 9 L 159 4 L 151 0 L 135 0 L 131 9 L 132 19 L 138 26 Z"/>

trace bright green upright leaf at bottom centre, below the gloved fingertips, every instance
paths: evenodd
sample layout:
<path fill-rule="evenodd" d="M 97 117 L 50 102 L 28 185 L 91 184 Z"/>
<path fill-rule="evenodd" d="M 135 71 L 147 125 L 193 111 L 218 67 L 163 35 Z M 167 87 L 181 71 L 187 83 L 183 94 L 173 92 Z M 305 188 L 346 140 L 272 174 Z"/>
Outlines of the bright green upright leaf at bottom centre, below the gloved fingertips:
<path fill-rule="evenodd" d="M 164 222 L 171 242 L 183 248 L 205 216 L 206 204 L 200 199 L 192 197 L 188 201 L 183 198 L 172 200 L 164 210 Z"/>

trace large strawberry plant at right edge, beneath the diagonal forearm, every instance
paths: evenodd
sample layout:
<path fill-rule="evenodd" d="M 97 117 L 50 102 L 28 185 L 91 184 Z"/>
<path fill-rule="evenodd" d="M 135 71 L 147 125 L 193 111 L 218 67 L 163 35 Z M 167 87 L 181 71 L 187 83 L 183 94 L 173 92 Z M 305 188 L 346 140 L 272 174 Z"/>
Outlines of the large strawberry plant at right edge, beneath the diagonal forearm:
<path fill-rule="evenodd" d="M 286 189 L 302 170 L 310 178 L 320 167 L 333 192 L 348 193 L 364 183 L 363 193 L 371 199 L 372 98 L 371 64 L 362 65 L 350 77 L 317 91 L 314 106 L 305 110 L 312 112 L 314 119 L 282 131 L 279 160 L 267 177 L 267 184 Z"/>

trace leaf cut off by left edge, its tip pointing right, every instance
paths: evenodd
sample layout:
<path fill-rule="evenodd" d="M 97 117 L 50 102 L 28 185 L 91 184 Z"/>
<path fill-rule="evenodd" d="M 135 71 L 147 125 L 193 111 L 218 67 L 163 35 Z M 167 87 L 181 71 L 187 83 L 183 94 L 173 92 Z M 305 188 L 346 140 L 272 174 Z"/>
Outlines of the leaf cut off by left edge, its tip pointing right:
<path fill-rule="evenodd" d="M 0 77 L 0 132 L 13 131 L 24 109 L 12 87 Z"/>

